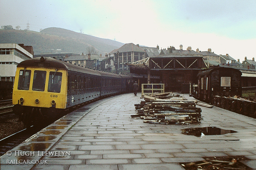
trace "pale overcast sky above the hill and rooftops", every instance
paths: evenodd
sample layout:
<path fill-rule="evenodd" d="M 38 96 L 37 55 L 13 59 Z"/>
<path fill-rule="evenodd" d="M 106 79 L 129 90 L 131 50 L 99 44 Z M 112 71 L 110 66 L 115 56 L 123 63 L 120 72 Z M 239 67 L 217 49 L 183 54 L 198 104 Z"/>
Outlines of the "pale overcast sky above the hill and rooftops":
<path fill-rule="evenodd" d="M 0 0 L 0 26 L 256 58 L 256 0 Z M 29 44 L 27 44 L 29 45 Z"/>

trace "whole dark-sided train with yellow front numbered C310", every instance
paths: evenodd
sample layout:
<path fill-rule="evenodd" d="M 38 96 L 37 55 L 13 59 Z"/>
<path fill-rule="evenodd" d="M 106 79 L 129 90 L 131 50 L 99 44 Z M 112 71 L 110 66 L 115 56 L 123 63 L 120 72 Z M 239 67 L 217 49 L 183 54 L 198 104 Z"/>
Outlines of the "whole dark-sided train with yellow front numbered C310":
<path fill-rule="evenodd" d="M 27 127 L 56 120 L 81 103 L 129 91 L 136 78 L 45 57 L 20 62 L 15 77 L 13 111 Z"/>

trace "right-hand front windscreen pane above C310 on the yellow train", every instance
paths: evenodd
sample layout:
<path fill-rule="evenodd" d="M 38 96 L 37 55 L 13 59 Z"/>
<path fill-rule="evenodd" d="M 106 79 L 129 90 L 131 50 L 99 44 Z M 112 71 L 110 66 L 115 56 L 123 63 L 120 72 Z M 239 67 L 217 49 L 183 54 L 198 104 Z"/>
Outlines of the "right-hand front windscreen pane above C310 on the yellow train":
<path fill-rule="evenodd" d="M 60 93 L 62 73 L 50 71 L 48 92 Z"/>

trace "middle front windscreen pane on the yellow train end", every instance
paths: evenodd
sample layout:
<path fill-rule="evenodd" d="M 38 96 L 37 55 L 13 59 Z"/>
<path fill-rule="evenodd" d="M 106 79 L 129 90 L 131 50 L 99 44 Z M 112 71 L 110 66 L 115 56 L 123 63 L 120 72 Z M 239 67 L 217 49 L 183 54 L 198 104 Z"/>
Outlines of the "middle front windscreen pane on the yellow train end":
<path fill-rule="evenodd" d="M 44 91 L 46 71 L 35 70 L 33 78 L 33 91 Z"/>

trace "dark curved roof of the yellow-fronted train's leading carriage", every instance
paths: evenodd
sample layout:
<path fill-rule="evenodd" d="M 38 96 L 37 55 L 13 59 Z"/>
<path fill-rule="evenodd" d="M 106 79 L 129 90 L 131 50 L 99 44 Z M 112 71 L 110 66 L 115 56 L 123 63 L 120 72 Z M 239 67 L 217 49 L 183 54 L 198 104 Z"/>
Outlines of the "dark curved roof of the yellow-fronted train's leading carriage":
<path fill-rule="evenodd" d="M 63 69 L 63 70 L 71 70 L 77 71 L 81 73 L 93 74 L 93 75 L 101 75 L 99 71 L 93 70 L 90 68 L 78 66 L 75 64 L 70 64 L 68 62 L 64 62 L 61 60 L 56 60 L 48 57 L 37 57 L 29 60 L 21 61 L 17 67 L 42 67 L 42 68 L 54 68 L 54 69 Z"/>

